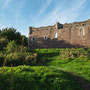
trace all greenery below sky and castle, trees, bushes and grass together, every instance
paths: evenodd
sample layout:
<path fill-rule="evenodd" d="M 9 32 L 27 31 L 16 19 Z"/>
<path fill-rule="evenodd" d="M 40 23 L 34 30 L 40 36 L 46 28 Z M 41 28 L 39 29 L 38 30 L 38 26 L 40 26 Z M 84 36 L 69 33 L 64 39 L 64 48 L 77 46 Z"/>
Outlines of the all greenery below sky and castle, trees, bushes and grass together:
<path fill-rule="evenodd" d="M 0 66 L 0 90 L 90 90 L 90 48 L 32 52 L 25 36 L 6 28 L 0 30 Z"/>

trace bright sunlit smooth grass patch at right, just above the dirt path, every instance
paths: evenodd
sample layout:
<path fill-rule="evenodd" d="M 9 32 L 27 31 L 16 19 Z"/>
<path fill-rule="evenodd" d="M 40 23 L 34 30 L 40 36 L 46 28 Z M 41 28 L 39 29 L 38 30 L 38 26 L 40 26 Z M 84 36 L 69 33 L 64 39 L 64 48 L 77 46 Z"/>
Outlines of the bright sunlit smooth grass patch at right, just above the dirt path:
<path fill-rule="evenodd" d="M 75 60 L 53 60 L 50 62 L 49 66 L 53 68 L 58 68 L 67 72 L 71 72 L 75 75 L 79 75 L 84 79 L 90 81 L 90 62 L 81 58 Z"/>

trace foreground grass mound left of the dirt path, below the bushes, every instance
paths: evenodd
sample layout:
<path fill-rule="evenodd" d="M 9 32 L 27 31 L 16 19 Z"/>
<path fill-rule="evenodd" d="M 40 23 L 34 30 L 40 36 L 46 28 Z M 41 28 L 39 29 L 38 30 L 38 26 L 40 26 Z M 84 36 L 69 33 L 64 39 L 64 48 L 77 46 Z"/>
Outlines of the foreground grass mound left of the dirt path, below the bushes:
<path fill-rule="evenodd" d="M 0 68 L 0 90 L 82 90 L 74 76 L 50 67 Z"/>

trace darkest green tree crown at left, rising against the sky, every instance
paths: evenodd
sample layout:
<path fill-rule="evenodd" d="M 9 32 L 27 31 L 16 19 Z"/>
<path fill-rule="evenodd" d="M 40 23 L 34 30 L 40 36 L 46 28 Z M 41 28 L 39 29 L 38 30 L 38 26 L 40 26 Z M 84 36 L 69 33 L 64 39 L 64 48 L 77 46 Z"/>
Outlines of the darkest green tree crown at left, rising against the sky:
<path fill-rule="evenodd" d="M 4 28 L 0 30 L 0 37 L 6 38 L 9 42 L 14 40 L 19 45 L 27 45 L 26 36 L 21 35 L 21 33 L 17 32 L 14 28 Z"/>

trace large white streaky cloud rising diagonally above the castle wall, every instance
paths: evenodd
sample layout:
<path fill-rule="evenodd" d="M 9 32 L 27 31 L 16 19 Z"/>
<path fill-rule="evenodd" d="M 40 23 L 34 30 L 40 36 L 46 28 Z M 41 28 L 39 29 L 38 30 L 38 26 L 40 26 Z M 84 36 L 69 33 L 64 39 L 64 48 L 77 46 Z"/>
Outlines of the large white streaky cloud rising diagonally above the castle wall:
<path fill-rule="evenodd" d="M 55 24 L 56 21 L 61 23 L 76 21 L 77 17 L 80 16 L 80 13 L 85 8 L 85 3 L 87 0 L 70 0 L 70 5 L 66 6 L 68 0 L 62 2 L 62 4 L 58 3 L 56 7 L 47 14 L 44 18 L 36 17 L 34 20 L 34 25 L 43 26 L 43 25 L 52 25 Z M 39 21 L 36 23 L 36 21 Z M 41 23 L 42 22 L 42 23 Z"/>

